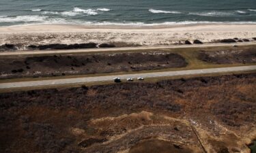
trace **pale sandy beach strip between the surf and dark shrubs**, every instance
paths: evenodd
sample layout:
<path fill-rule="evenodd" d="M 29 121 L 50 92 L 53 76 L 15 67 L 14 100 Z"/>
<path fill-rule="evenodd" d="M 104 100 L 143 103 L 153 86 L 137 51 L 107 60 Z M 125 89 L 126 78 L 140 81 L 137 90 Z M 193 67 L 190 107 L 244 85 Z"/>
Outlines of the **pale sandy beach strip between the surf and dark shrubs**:
<path fill-rule="evenodd" d="M 188 24 L 161 26 L 86 26 L 75 24 L 38 24 L 0 27 L 1 44 L 81 44 L 113 43 L 116 46 L 156 46 L 183 44 L 199 39 L 253 40 L 256 24 Z"/>

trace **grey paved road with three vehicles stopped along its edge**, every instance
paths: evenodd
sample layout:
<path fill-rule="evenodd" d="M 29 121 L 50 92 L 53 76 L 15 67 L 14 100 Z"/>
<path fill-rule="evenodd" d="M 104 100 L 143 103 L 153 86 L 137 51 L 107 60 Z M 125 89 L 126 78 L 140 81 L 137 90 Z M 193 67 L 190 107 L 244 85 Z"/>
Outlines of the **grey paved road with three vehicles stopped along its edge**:
<path fill-rule="evenodd" d="M 20 87 L 35 87 L 35 86 L 51 86 L 51 85 L 61 85 L 61 84 L 79 84 L 88 82 L 103 82 L 113 80 L 115 77 L 121 79 L 126 78 L 157 78 L 157 77 L 169 77 L 176 75 L 195 75 L 195 74 L 207 74 L 207 73 L 221 73 L 221 72 L 231 72 L 231 71 L 253 71 L 256 70 L 256 65 L 253 66 L 242 66 L 242 67 L 224 67 L 224 68 L 213 68 L 213 69 L 193 69 L 184 71 L 163 71 L 154 73 L 136 73 L 136 74 L 124 74 L 124 75 L 107 75 L 107 76 L 97 76 L 97 77 L 87 77 L 87 78 L 69 78 L 69 79 L 59 79 L 59 80 L 40 80 L 31 82 L 12 82 L 12 83 L 2 83 L 0 84 L 0 89 L 5 88 L 20 88 Z"/>

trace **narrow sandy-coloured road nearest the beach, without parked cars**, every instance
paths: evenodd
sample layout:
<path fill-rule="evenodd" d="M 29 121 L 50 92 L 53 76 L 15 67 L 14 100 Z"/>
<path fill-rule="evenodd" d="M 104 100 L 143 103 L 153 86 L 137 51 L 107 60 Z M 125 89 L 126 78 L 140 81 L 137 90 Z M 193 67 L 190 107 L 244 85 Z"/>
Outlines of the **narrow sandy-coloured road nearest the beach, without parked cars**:
<path fill-rule="evenodd" d="M 0 56 L 10 55 L 29 55 L 29 54 L 72 54 L 83 52 L 107 52 L 107 51 L 122 51 L 122 50 L 156 50 L 156 49 L 171 49 L 171 48 L 204 48 L 204 47 L 225 47 L 233 46 L 234 44 L 193 44 L 193 45 L 169 45 L 169 46 L 139 46 L 139 47 L 123 47 L 123 48 L 88 48 L 81 50 L 33 50 L 33 51 L 18 51 L 18 52 L 0 52 Z M 256 41 L 236 43 L 237 46 L 256 45 Z"/>

